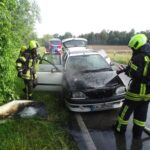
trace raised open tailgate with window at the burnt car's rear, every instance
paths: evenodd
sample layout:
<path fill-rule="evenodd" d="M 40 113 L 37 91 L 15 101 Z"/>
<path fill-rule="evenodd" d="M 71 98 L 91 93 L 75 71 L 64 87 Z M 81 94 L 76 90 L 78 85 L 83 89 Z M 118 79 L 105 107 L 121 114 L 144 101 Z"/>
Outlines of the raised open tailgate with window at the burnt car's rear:
<path fill-rule="evenodd" d="M 87 42 L 84 40 L 70 40 L 67 42 L 64 42 L 64 47 L 70 48 L 70 47 L 86 47 Z"/>

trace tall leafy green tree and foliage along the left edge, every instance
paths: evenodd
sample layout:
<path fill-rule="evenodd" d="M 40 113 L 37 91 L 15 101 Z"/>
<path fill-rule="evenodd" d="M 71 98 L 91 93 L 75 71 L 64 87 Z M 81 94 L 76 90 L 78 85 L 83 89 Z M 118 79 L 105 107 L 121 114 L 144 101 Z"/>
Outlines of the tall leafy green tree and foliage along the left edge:
<path fill-rule="evenodd" d="M 0 2 L 0 102 L 17 96 L 15 61 L 21 44 L 27 44 L 33 34 L 35 37 L 34 24 L 39 16 L 33 3 L 28 0 Z"/>

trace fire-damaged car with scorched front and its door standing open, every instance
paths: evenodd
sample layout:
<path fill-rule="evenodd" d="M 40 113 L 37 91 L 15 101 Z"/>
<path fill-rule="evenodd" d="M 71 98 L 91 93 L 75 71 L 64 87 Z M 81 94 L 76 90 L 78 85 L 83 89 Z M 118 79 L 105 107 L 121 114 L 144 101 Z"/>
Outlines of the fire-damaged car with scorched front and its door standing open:
<path fill-rule="evenodd" d="M 125 86 L 98 52 L 68 50 L 62 62 L 61 65 L 40 65 L 38 90 L 61 92 L 66 106 L 74 112 L 114 109 L 122 105 Z"/>

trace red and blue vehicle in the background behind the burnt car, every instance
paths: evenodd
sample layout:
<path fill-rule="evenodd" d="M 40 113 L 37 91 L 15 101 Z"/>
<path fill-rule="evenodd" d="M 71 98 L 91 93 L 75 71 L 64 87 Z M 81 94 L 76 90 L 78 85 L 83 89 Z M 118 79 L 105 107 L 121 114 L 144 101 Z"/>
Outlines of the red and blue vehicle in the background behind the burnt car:
<path fill-rule="evenodd" d="M 58 38 L 53 38 L 50 40 L 49 45 L 47 47 L 47 52 L 51 54 L 62 54 L 62 42 Z"/>

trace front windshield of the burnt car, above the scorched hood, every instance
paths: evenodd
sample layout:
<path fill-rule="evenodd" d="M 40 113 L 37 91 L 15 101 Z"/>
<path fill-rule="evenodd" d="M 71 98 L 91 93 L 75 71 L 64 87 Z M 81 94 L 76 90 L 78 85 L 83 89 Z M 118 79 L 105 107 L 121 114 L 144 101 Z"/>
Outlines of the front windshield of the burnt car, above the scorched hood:
<path fill-rule="evenodd" d="M 98 54 L 70 56 L 66 64 L 66 70 L 76 71 L 101 71 L 110 69 L 109 64 Z"/>

